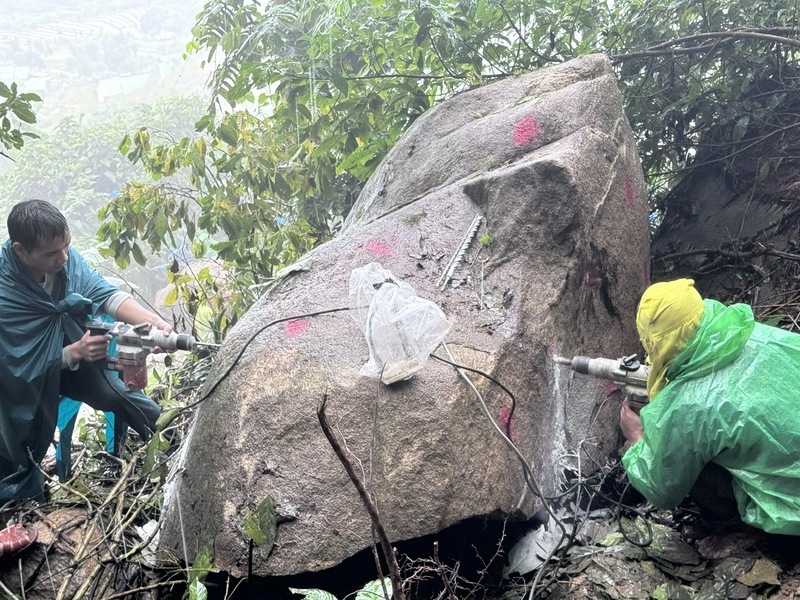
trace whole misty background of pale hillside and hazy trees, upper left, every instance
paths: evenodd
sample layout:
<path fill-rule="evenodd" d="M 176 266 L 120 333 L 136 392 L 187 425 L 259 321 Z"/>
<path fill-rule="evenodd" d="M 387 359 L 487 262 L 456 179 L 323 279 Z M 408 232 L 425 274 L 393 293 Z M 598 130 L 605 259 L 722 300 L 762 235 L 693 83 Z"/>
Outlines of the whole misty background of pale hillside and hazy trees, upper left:
<path fill-rule="evenodd" d="M 186 56 L 201 0 L 0 0 L 0 81 L 42 98 L 37 123 L 12 160 L 0 157 L 0 239 L 16 202 L 42 198 L 66 215 L 73 244 L 104 274 L 130 279 L 148 299 L 163 285 L 162 256 L 148 267 L 115 273 L 96 252 L 97 211 L 125 183 L 145 179 L 119 153 L 126 134 L 147 127 L 156 137 L 194 133 L 206 112 L 210 69 Z M 150 264 L 152 263 L 152 264 Z M 119 283 L 119 281 L 117 281 Z"/>

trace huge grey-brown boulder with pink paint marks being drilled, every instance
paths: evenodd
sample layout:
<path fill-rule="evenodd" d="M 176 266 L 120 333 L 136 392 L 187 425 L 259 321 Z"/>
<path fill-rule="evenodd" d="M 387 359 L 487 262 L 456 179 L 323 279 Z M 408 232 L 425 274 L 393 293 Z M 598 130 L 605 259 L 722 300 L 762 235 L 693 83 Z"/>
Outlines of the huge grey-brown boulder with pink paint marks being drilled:
<path fill-rule="evenodd" d="M 477 215 L 480 229 L 442 290 Z M 349 312 L 310 316 L 346 308 L 351 272 L 370 262 L 442 308 L 453 326 L 438 356 L 514 394 L 509 422 L 509 395 L 468 373 L 542 492 L 558 489 L 565 468 L 586 474 L 605 461 L 619 405 L 603 382 L 552 357 L 639 349 L 647 206 L 609 61 L 590 56 L 463 93 L 414 123 L 342 234 L 226 340 L 172 478 L 162 551 L 191 562 L 211 544 L 215 567 L 245 574 L 248 531 L 255 517 L 270 520 L 268 497 L 277 527 L 267 523 L 254 546 L 256 575 L 322 570 L 369 547 L 367 513 L 317 419 L 323 395 L 392 541 L 541 507 L 452 366 L 429 359 L 391 386 L 360 377 L 367 344 Z"/>

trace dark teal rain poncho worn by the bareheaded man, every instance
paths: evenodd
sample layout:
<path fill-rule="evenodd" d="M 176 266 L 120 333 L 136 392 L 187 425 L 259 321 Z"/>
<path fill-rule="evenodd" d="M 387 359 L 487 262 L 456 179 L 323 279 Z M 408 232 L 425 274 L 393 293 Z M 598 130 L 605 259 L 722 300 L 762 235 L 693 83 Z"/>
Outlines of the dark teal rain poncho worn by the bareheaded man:
<path fill-rule="evenodd" d="M 119 288 L 70 248 L 53 300 L 27 273 L 8 241 L 0 253 L 0 503 L 39 498 L 38 463 L 53 441 L 65 345 Z"/>

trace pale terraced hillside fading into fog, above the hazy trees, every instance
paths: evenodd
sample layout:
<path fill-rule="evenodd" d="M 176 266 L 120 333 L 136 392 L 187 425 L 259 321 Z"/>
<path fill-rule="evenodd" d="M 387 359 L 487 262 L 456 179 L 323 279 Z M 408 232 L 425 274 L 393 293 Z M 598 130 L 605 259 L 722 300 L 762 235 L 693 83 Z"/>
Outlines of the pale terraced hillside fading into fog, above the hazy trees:
<path fill-rule="evenodd" d="M 197 93 L 199 60 L 182 53 L 202 0 L 0 0 L 0 81 L 44 102 L 39 127 Z"/>

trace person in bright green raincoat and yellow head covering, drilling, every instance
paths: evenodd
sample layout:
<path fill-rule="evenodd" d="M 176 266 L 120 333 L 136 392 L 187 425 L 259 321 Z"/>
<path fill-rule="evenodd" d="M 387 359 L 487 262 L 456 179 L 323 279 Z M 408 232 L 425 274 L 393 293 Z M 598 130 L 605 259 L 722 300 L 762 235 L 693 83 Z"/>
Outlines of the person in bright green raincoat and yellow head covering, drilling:
<path fill-rule="evenodd" d="M 633 487 L 659 508 L 711 491 L 719 514 L 730 501 L 748 525 L 800 535 L 800 335 L 691 279 L 650 286 L 636 325 L 651 371 L 650 402 L 620 412 Z"/>

